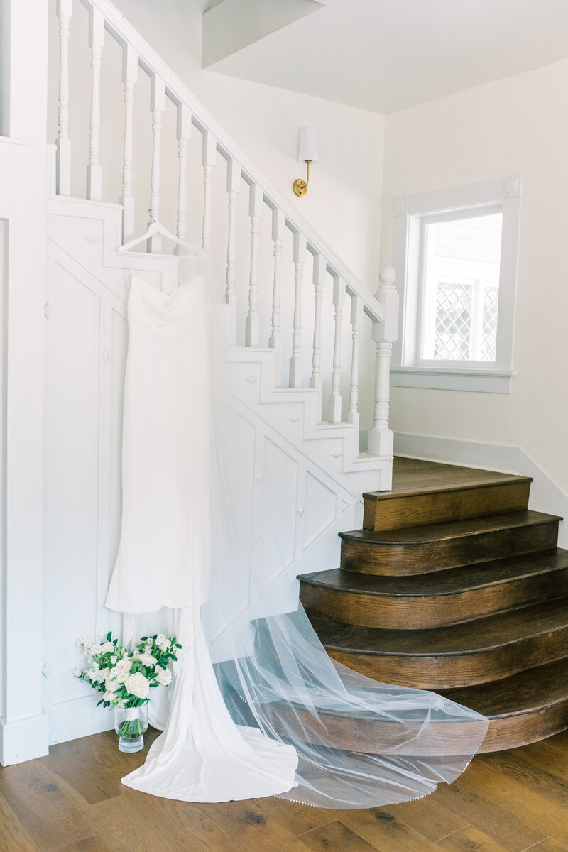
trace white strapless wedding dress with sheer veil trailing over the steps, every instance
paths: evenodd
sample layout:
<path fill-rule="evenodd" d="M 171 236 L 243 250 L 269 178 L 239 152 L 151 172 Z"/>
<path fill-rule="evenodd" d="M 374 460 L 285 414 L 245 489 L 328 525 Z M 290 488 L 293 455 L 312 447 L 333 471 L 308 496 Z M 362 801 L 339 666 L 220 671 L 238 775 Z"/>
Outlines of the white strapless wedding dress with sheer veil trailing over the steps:
<path fill-rule="evenodd" d="M 301 605 L 283 613 L 280 587 L 245 573 L 227 505 L 239 455 L 222 415 L 230 371 L 211 346 L 222 308 L 211 323 L 205 305 L 222 298 L 207 262 L 194 266 L 169 296 L 130 283 L 123 520 L 106 606 L 126 613 L 126 640 L 135 628 L 175 632 L 183 649 L 171 694 L 151 704 L 164 733 L 123 783 L 186 801 L 279 795 L 327 808 L 427 795 L 465 769 L 488 722 L 336 663 Z"/>

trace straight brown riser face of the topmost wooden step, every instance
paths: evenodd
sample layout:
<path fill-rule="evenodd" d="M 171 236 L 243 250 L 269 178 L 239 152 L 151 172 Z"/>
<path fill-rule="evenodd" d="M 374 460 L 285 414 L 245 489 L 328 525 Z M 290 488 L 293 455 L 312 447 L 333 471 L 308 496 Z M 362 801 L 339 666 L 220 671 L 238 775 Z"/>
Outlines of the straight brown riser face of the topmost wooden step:
<path fill-rule="evenodd" d="M 363 527 L 374 532 L 500 515 L 529 504 L 531 481 L 388 497 L 365 494 Z"/>

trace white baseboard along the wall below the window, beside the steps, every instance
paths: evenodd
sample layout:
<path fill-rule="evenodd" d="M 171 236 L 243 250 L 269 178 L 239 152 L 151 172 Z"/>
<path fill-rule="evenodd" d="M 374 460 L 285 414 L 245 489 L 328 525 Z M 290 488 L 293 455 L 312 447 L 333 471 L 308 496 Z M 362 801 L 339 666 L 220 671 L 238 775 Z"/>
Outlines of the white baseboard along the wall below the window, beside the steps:
<path fill-rule="evenodd" d="M 456 464 L 458 467 L 532 476 L 529 508 L 549 515 L 562 515 L 568 521 L 568 494 L 519 446 L 395 432 L 394 454 Z M 559 547 L 568 548 L 566 521 L 560 523 L 558 543 Z"/>

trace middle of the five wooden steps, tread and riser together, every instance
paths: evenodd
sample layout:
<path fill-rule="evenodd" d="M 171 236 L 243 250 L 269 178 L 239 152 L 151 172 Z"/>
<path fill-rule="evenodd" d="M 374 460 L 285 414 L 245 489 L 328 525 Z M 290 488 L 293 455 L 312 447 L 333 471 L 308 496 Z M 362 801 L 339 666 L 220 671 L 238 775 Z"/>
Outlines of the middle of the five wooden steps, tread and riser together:
<path fill-rule="evenodd" d="M 551 550 L 385 577 L 336 568 L 301 574 L 308 615 L 363 627 L 421 630 L 455 625 L 568 594 L 568 550 Z"/>

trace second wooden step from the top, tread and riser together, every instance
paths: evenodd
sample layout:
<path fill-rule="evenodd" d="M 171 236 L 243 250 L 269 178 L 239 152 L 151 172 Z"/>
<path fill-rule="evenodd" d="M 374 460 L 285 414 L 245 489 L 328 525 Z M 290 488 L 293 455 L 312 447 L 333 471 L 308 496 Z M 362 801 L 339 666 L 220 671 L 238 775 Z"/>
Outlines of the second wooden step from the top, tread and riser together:
<path fill-rule="evenodd" d="M 551 550 L 561 520 L 559 515 L 517 511 L 380 533 L 339 533 L 341 567 L 390 576 L 422 574 Z"/>

